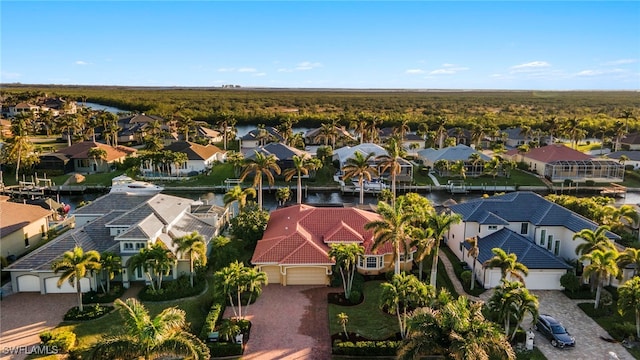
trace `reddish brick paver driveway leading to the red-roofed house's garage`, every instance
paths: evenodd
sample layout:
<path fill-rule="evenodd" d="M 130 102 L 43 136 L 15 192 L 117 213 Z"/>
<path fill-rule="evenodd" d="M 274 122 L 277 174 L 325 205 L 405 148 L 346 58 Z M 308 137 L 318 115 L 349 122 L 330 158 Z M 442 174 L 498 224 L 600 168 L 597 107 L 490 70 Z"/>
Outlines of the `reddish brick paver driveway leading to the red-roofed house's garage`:
<path fill-rule="evenodd" d="M 331 358 L 327 294 L 335 288 L 267 285 L 249 306 L 251 338 L 244 360 Z M 233 316 L 227 307 L 225 317 Z"/>

